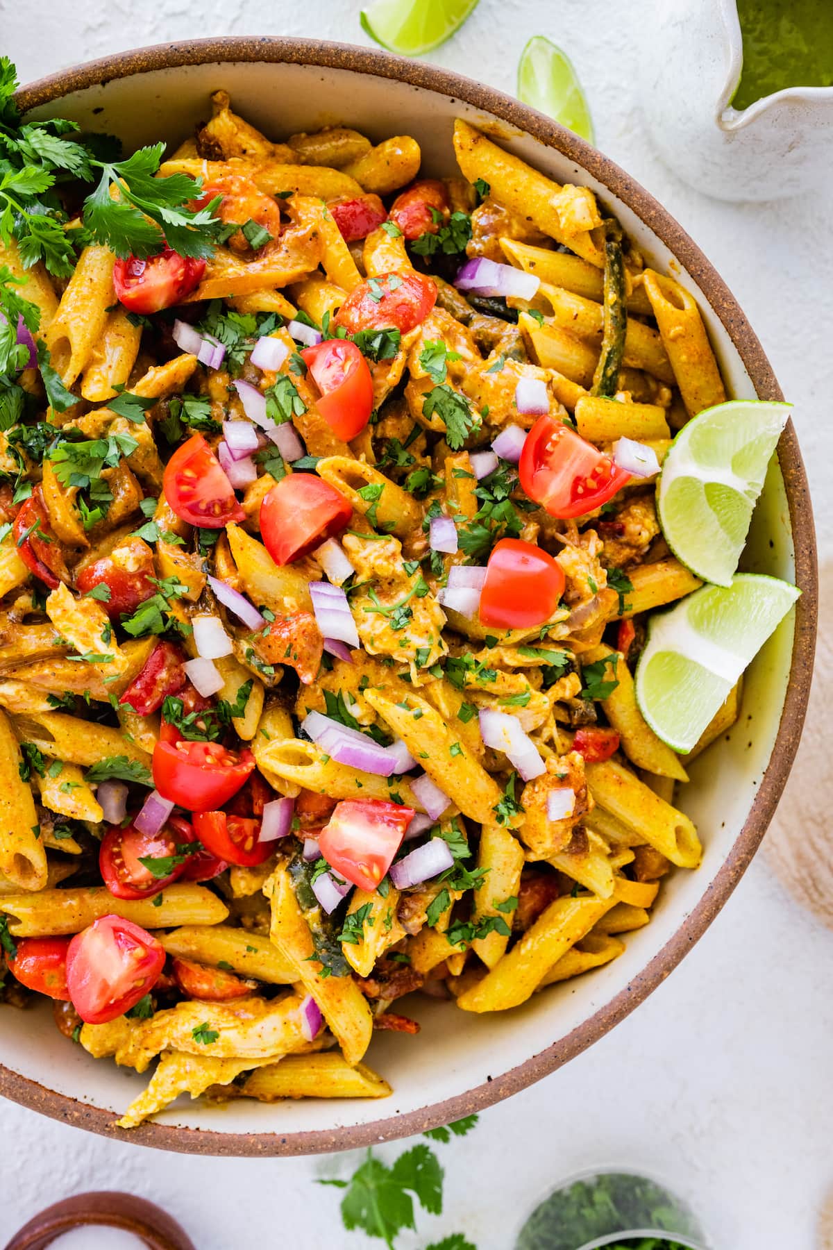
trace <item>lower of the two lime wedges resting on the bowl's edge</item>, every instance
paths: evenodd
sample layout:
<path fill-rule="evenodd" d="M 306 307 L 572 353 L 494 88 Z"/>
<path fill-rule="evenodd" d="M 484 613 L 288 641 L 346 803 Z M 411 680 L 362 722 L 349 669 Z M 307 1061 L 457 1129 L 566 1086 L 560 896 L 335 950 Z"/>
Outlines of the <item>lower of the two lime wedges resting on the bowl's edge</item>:
<path fill-rule="evenodd" d="M 636 696 L 663 742 L 692 750 L 799 594 L 788 581 L 738 572 L 729 586 L 702 586 L 651 619 Z"/>

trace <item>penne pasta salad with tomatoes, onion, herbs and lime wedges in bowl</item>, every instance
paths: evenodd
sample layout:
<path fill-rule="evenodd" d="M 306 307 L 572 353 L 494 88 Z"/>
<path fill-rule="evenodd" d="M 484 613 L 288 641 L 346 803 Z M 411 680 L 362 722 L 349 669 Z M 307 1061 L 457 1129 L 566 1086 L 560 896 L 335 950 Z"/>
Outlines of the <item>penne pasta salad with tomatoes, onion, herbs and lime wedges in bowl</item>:
<path fill-rule="evenodd" d="M 209 1138 L 265 1104 L 325 1149 L 283 1100 L 395 1099 L 385 1055 L 450 1014 L 536 1054 L 527 1012 L 552 1039 L 679 924 L 692 769 L 789 646 L 794 579 L 737 572 L 789 406 L 729 399 L 679 264 L 578 168 L 448 98 L 441 155 L 335 88 L 343 124 L 269 124 L 215 62 L 167 149 L 6 75 L 2 994 L 146 1074 L 141 1140 L 189 1094 Z"/>

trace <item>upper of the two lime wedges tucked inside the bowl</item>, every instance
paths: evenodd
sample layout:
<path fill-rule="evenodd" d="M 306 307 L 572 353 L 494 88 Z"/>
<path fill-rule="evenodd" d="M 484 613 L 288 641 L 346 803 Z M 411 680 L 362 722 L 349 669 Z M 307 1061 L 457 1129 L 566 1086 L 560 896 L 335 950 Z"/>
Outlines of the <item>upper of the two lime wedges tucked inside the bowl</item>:
<path fill-rule="evenodd" d="M 789 404 L 732 400 L 682 428 L 662 465 L 657 511 L 666 542 L 703 581 L 728 586 Z"/>

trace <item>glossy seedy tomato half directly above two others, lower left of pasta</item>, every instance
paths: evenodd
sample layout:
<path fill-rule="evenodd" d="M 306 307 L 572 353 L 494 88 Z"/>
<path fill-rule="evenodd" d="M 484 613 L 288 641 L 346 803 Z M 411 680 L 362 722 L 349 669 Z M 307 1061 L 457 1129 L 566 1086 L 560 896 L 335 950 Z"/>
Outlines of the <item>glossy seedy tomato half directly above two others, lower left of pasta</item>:
<path fill-rule="evenodd" d="M 255 758 L 249 748 L 237 755 L 219 742 L 185 739 L 159 741 L 154 748 L 154 785 L 162 799 L 191 811 L 211 811 L 227 802 L 254 768 Z"/>

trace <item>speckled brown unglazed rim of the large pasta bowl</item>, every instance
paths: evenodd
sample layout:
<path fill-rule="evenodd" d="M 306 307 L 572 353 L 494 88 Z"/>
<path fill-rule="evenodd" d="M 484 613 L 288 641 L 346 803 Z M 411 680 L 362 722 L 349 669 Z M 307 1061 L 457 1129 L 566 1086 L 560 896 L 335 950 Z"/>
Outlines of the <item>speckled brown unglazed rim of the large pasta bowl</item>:
<path fill-rule="evenodd" d="M 322 69 L 352 70 L 377 78 L 397 79 L 411 86 L 425 88 L 440 95 L 462 100 L 483 109 L 510 126 L 563 152 L 587 170 L 602 185 L 623 200 L 653 231 L 691 274 L 717 316 L 723 322 L 761 399 L 783 400 L 752 326 L 734 296 L 686 231 L 653 196 L 639 186 L 612 160 L 591 148 L 572 131 L 551 118 L 520 104 L 502 91 L 483 86 L 461 74 L 406 60 L 388 52 L 351 44 L 318 42 L 306 39 L 272 39 L 267 36 L 196 39 L 186 44 L 161 44 L 119 52 L 104 60 L 90 61 L 49 78 L 40 79 L 17 92 L 22 111 L 49 104 L 71 91 L 104 85 L 112 79 L 145 74 L 151 70 L 176 69 L 224 61 L 265 61 L 272 64 L 312 65 Z M 726 862 L 694 910 L 673 938 L 654 955 L 631 984 L 588 1020 L 517 1068 L 465 1094 L 435 1102 L 406 1115 L 375 1120 L 352 1128 L 307 1132 L 215 1132 L 164 1124 L 144 1124 L 136 1129 L 114 1128 L 112 1111 L 89 1106 L 69 1095 L 47 1090 L 29 1078 L 0 1066 L 0 1094 L 55 1120 L 64 1120 L 92 1132 L 122 1141 L 204 1155 L 302 1155 L 332 1150 L 351 1150 L 378 1141 L 390 1141 L 426 1129 L 447 1124 L 461 1116 L 482 1111 L 501 1099 L 526 1089 L 533 1081 L 555 1071 L 568 1059 L 581 1054 L 603 1034 L 623 1020 L 679 962 L 712 922 L 741 880 L 776 810 L 781 792 L 796 758 L 807 711 L 817 618 L 817 564 L 813 514 L 798 440 L 792 421 L 781 436 L 778 460 L 784 479 L 793 545 L 796 550 L 796 581 L 802 589 L 796 614 L 796 636 L 789 684 L 769 764 L 761 780 L 758 794 Z"/>

